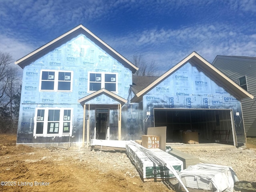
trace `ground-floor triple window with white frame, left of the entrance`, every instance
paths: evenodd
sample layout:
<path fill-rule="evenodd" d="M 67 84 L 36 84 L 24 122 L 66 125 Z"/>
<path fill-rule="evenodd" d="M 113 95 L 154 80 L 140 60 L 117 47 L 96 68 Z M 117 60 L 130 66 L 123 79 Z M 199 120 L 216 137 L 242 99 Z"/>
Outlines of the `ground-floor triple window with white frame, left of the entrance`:
<path fill-rule="evenodd" d="M 61 136 L 71 135 L 72 109 L 67 108 L 38 108 L 36 110 L 34 135 Z"/>

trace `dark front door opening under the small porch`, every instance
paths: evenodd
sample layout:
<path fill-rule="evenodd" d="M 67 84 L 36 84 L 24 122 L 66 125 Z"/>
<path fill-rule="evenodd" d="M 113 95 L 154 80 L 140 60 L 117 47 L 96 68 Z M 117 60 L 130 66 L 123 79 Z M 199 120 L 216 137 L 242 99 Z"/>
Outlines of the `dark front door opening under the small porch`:
<path fill-rule="evenodd" d="M 109 110 L 108 109 L 96 109 L 96 133 L 98 133 L 98 139 L 106 139 L 106 132 L 108 130 Z"/>

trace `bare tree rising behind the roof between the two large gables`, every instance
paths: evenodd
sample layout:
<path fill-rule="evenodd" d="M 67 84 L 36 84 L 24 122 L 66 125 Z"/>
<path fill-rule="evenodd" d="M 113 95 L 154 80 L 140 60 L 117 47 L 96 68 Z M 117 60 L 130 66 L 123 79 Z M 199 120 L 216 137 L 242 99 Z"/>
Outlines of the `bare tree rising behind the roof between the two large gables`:
<path fill-rule="evenodd" d="M 136 65 L 139 70 L 134 73 L 135 76 L 159 76 L 157 73 L 156 63 L 152 60 L 151 63 L 148 63 L 142 58 L 141 54 L 134 54 L 132 56 L 132 62 Z"/>

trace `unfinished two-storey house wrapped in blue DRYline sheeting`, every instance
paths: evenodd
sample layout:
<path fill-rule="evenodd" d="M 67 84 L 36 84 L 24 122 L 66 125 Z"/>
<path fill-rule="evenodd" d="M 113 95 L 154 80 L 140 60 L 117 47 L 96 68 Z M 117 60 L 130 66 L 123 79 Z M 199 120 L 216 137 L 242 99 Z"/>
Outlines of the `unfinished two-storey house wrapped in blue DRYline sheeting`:
<path fill-rule="evenodd" d="M 160 77 L 133 76 L 136 66 L 79 25 L 15 64 L 23 68 L 17 144 L 81 145 L 95 132 L 136 140 L 154 126 L 167 127 L 167 141 L 185 130 L 199 142 L 212 142 L 214 130 L 246 141 L 240 100 L 253 96 L 196 52 Z"/>

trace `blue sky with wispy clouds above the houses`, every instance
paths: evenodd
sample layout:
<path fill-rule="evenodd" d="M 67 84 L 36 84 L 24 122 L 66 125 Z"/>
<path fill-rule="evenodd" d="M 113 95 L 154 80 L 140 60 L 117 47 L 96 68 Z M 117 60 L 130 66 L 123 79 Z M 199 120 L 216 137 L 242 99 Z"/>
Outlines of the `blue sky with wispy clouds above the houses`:
<path fill-rule="evenodd" d="M 0 50 L 18 60 L 79 24 L 160 71 L 193 51 L 256 56 L 256 0 L 1 0 Z"/>

